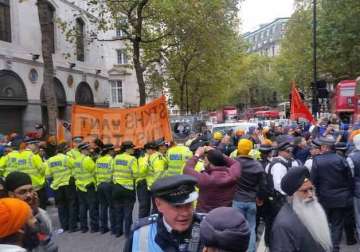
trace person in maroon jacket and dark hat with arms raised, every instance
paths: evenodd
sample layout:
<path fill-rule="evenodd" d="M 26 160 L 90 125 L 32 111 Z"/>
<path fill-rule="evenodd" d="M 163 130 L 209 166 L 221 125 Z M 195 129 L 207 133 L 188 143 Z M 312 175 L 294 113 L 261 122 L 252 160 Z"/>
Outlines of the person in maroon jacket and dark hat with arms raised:
<path fill-rule="evenodd" d="M 201 157 L 205 160 L 205 170 L 198 172 L 195 166 Z M 220 206 L 231 206 L 240 173 L 239 162 L 226 157 L 219 150 L 211 147 L 198 148 L 184 168 L 184 174 L 191 175 L 198 181 L 199 200 L 196 210 L 207 213 Z"/>

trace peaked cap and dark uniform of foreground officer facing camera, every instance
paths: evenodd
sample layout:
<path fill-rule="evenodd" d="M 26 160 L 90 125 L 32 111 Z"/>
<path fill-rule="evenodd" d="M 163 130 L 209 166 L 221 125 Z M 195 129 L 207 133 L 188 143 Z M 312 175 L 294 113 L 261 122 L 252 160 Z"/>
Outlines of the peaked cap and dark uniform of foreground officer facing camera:
<path fill-rule="evenodd" d="M 196 179 L 188 175 L 176 175 L 159 179 L 151 192 L 170 204 L 187 204 L 197 198 Z M 204 215 L 194 214 L 193 222 L 184 232 L 169 230 L 162 214 L 151 215 L 134 224 L 132 233 L 126 241 L 124 252 L 198 252 L 202 251 L 200 242 L 200 222 Z"/>

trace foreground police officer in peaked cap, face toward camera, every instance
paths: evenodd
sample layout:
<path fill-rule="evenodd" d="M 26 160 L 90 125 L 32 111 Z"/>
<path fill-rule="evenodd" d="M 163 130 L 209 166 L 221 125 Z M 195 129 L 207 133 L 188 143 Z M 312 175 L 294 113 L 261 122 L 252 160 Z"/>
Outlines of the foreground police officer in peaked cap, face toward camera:
<path fill-rule="evenodd" d="M 197 181 L 189 175 L 157 180 L 151 187 L 159 215 L 140 219 L 125 244 L 124 252 L 202 251 L 200 222 L 194 214 Z"/>

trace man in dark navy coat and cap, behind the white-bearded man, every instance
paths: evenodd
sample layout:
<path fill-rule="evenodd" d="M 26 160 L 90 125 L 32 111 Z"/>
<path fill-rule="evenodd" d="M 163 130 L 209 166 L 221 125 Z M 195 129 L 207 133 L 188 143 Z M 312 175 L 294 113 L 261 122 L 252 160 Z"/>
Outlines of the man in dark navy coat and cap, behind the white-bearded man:
<path fill-rule="evenodd" d="M 335 153 L 333 138 L 320 137 L 319 143 L 321 154 L 313 159 L 311 179 L 331 225 L 333 251 L 338 252 L 353 199 L 351 172 L 344 157 Z"/>

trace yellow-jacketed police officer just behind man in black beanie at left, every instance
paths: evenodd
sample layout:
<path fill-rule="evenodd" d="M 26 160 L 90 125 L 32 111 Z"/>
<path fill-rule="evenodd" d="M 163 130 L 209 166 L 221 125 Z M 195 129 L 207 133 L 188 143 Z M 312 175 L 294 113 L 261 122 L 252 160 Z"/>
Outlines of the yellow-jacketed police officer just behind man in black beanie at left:
<path fill-rule="evenodd" d="M 25 150 L 18 156 L 17 170 L 31 177 L 31 183 L 39 196 L 40 208 L 46 209 L 45 165 L 39 153 L 39 141 L 29 138 L 25 141 Z"/>

